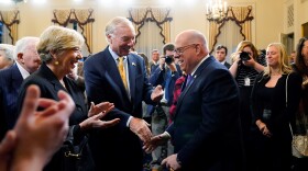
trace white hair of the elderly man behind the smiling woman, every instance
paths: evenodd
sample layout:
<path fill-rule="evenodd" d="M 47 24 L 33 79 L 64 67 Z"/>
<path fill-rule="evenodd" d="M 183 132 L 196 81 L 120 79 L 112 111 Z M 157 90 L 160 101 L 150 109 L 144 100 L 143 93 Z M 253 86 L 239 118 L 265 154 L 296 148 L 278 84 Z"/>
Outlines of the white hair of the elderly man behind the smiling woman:
<path fill-rule="evenodd" d="M 33 45 L 33 43 L 36 44 L 36 42 L 38 42 L 38 37 L 32 37 L 32 36 L 26 36 L 26 37 L 22 37 L 20 38 L 16 44 L 15 44 L 15 49 L 14 49 L 14 59 L 18 58 L 18 54 L 24 54 L 30 46 Z"/>

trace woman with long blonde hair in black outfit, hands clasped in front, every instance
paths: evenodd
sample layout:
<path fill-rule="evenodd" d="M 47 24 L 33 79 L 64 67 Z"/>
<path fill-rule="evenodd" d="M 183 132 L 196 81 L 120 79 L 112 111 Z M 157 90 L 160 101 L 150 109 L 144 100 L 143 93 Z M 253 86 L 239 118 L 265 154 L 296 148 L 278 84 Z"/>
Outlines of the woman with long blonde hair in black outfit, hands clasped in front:
<path fill-rule="evenodd" d="M 266 49 L 264 72 L 252 90 L 252 113 L 255 127 L 255 164 L 260 170 L 289 171 L 292 166 L 292 133 L 300 99 L 301 77 L 293 72 L 285 46 L 272 43 Z"/>

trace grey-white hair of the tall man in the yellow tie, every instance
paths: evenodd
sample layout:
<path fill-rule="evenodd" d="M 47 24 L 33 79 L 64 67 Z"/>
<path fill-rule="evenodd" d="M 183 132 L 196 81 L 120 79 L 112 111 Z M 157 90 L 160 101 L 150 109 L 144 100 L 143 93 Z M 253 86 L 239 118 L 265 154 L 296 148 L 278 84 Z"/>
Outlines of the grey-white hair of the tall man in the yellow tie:
<path fill-rule="evenodd" d="M 117 30 L 117 27 L 119 27 L 119 26 L 130 26 L 133 31 L 135 31 L 132 22 L 129 19 L 123 18 L 123 16 L 116 16 L 116 18 L 111 19 L 106 25 L 106 29 L 105 29 L 106 37 L 108 35 L 112 35 L 114 33 L 114 31 Z M 108 42 L 108 39 L 107 39 L 107 42 Z"/>

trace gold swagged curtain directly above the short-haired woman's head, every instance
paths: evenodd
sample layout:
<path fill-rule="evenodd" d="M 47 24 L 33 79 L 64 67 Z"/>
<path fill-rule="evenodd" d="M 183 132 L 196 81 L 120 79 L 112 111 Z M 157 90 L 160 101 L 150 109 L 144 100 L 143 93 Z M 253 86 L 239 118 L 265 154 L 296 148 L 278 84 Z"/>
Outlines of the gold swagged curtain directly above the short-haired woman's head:
<path fill-rule="evenodd" d="M 92 23 L 94 10 L 54 10 L 54 19 L 52 22 L 57 23 L 62 26 L 67 26 L 69 23 L 77 22 L 81 29 L 81 35 L 85 38 L 87 50 L 89 54 L 92 53 Z"/>

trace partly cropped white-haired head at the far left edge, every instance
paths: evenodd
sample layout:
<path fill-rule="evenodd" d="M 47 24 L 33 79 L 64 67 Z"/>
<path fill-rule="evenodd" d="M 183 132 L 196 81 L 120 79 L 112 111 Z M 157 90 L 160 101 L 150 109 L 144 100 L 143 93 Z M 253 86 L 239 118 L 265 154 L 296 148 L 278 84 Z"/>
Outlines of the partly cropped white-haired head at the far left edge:
<path fill-rule="evenodd" d="M 14 64 L 13 50 L 13 45 L 0 44 L 0 70 L 9 68 Z"/>

